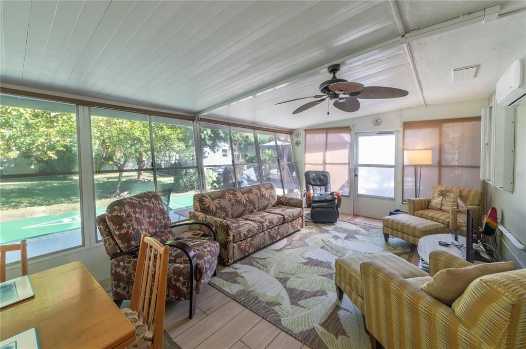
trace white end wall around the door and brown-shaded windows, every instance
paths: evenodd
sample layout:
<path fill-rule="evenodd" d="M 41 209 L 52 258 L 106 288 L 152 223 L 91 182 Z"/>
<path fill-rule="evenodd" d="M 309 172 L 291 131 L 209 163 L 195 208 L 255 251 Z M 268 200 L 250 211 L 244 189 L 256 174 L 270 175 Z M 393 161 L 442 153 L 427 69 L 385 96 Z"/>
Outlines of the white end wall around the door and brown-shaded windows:
<path fill-rule="evenodd" d="M 341 120 L 330 123 L 320 123 L 315 126 L 310 126 L 309 129 L 319 129 L 326 127 L 338 127 L 338 126 L 350 126 L 351 140 L 355 139 L 356 132 L 378 132 L 378 131 L 400 131 L 398 149 L 397 149 L 397 181 L 395 182 L 395 207 L 401 209 L 407 209 L 406 205 L 402 205 L 402 122 L 404 121 L 418 121 L 418 120 L 438 120 L 438 119 L 454 119 L 454 118 L 469 118 L 469 117 L 480 117 L 482 107 L 488 105 L 487 99 L 479 99 L 474 101 L 465 102 L 453 102 L 453 103 L 442 103 L 432 104 L 421 107 L 413 107 L 408 109 L 402 109 L 397 111 L 391 111 L 381 114 L 372 114 L 365 117 Z M 372 120 L 374 118 L 381 118 L 382 124 L 380 126 L 373 126 Z M 322 119 L 320 118 L 320 121 Z M 301 132 L 301 145 L 295 147 L 296 161 L 298 163 L 298 172 L 300 174 L 305 172 L 305 129 L 294 130 Z M 351 149 L 352 152 L 352 149 Z M 352 166 L 352 165 L 351 165 Z M 352 173 L 351 173 L 352 176 Z M 304 177 L 300 178 L 301 188 L 305 187 Z M 351 178 L 352 181 L 352 178 Z M 351 191 L 353 186 L 351 185 Z M 352 194 L 351 194 L 352 197 Z M 342 198 L 342 205 L 340 208 L 342 213 L 352 213 L 352 201 L 350 197 Z M 387 211 L 385 215 L 389 212 Z"/>

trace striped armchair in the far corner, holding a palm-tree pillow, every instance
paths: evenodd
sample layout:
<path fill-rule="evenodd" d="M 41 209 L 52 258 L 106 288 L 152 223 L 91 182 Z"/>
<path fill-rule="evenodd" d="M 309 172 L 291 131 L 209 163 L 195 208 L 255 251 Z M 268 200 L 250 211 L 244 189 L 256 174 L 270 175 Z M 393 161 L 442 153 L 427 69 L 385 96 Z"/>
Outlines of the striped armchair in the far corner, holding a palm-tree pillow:
<path fill-rule="evenodd" d="M 477 230 L 482 224 L 482 211 L 484 210 L 484 192 L 479 189 L 467 189 L 448 186 L 434 186 L 445 189 L 460 189 L 460 198 L 468 206 L 473 216 L 473 228 Z M 443 224 L 448 229 L 457 229 L 457 223 L 460 226 L 466 225 L 466 213 L 457 213 L 457 210 L 449 212 L 428 208 L 431 198 L 407 199 L 407 208 L 409 214 L 424 219 L 429 219 Z"/>

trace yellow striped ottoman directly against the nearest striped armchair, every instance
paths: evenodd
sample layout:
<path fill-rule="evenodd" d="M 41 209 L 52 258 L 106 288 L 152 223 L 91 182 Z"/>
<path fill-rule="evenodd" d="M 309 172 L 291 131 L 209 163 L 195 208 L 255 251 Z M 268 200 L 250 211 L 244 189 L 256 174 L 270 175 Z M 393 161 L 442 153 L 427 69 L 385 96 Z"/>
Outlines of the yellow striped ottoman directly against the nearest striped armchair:
<path fill-rule="evenodd" d="M 393 273 L 404 279 L 419 278 L 429 274 L 412 265 L 407 260 L 393 255 L 392 253 L 376 253 L 374 255 L 362 255 L 336 258 L 334 282 L 338 299 L 343 298 L 343 293 L 355 303 L 363 313 L 363 287 L 360 265 L 363 262 L 376 262 L 378 265 L 388 268 Z"/>

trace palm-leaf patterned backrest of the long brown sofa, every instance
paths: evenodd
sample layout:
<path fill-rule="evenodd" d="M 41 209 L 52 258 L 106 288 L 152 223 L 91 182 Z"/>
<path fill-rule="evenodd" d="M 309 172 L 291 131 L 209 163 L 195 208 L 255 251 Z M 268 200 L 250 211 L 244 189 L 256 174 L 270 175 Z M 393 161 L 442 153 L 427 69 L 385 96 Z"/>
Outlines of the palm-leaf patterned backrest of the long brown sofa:
<path fill-rule="evenodd" d="M 194 195 L 194 210 L 221 219 L 239 218 L 276 205 L 271 183 Z"/>

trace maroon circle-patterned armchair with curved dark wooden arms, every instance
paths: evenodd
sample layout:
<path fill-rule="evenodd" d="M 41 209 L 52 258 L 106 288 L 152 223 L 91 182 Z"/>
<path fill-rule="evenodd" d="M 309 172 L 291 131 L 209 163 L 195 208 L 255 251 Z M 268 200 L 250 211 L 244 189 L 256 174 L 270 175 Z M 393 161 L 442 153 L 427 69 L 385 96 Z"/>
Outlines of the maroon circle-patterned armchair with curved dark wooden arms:
<path fill-rule="evenodd" d="M 96 217 L 104 247 L 110 257 L 112 293 L 116 303 L 131 299 L 141 235 L 170 246 L 166 300 L 190 300 L 190 319 L 195 313 L 195 297 L 215 275 L 219 244 L 216 228 L 203 221 L 171 224 L 163 200 L 155 192 L 145 192 L 116 200 L 106 213 Z M 180 238 L 172 228 L 199 225 L 205 238 Z M 205 235 L 205 234 L 203 234 Z"/>

